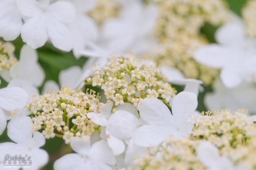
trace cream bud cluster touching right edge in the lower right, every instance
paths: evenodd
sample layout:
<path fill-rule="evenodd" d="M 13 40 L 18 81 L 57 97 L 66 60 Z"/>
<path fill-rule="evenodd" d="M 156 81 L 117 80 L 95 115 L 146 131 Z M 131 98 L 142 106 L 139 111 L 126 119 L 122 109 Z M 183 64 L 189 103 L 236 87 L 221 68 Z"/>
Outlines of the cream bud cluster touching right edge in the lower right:
<path fill-rule="evenodd" d="M 246 145 L 246 140 L 256 137 L 256 127 L 253 119 L 245 110 L 231 112 L 230 110 L 206 112 L 199 120 L 192 119 L 195 128 L 193 138 L 207 139 L 219 148 Z"/>

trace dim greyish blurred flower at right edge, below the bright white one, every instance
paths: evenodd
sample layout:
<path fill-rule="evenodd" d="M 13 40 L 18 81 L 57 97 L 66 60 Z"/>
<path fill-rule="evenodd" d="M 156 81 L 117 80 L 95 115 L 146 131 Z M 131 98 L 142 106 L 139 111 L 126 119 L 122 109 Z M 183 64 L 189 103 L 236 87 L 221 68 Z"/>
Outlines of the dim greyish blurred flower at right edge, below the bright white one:
<path fill-rule="evenodd" d="M 227 88 L 219 80 L 214 84 L 214 91 L 206 93 L 204 103 L 209 110 L 229 108 L 238 110 L 248 109 L 250 113 L 256 113 L 256 89 L 253 83 L 243 82 L 234 88 Z"/>

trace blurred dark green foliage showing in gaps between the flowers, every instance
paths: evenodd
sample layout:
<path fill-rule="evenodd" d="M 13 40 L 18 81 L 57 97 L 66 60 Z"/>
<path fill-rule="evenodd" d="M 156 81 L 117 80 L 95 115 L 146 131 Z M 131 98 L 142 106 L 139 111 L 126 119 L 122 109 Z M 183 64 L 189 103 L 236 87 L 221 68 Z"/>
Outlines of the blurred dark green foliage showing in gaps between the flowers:
<path fill-rule="evenodd" d="M 145 1 L 145 0 L 143 0 Z M 168 0 L 166 0 L 168 1 Z M 204 0 L 207 1 L 207 0 Z M 226 0 L 229 4 L 230 9 L 241 16 L 241 8 L 246 3 L 246 0 Z M 201 32 L 208 38 L 210 42 L 215 42 L 214 34 L 217 30 L 216 27 L 209 25 L 206 23 L 202 29 Z M 20 37 L 18 37 L 16 40 L 12 41 L 12 43 L 15 45 L 15 56 L 18 58 L 20 53 L 20 48 L 24 45 L 24 42 Z M 76 59 L 73 56 L 72 52 L 61 52 L 57 50 L 55 47 L 52 46 L 50 43 L 46 43 L 43 47 L 40 47 L 37 49 L 38 53 L 38 61 L 42 68 L 44 68 L 46 73 L 46 79 L 48 80 L 54 80 L 58 83 L 58 75 L 60 70 L 67 69 L 73 65 L 78 65 L 80 67 L 83 66 L 83 64 L 86 62 L 87 58 L 81 57 L 80 59 Z M 0 85 L 0 88 L 6 87 L 7 83 L 2 80 L 2 84 Z M 178 92 L 182 91 L 184 89 L 183 86 L 174 86 Z M 39 88 L 41 90 L 42 87 Z M 206 92 L 211 91 L 211 87 L 204 87 L 204 91 L 201 92 L 198 96 L 198 110 L 199 111 L 205 111 L 207 108 L 203 104 L 204 95 Z M 7 129 L 5 132 L 0 136 L 0 143 L 11 141 L 7 136 Z M 46 150 L 50 157 L 58 153 L 63 147 L 63 140 L 55 137 L 53 139 L 46 140 L 46 144 L 42 149 Z M 53 162 L 49 162 L 47 166 L 45 166 L 42 169 L 53 169 Z"/>

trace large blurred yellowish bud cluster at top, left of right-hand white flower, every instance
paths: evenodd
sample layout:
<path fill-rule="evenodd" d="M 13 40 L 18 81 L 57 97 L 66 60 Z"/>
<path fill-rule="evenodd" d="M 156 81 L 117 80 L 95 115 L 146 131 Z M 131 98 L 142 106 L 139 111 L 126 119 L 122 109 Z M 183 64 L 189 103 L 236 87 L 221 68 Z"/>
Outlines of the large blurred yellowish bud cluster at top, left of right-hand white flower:
<path fill-rule="evenodd" d="M 220 26 L 230 18 L 226 3 L 222 0 L 153 0 L 159 8 L 155 36 L 160 42 L 153 50 L 152 58 L 160 65 L 178 68 L 189 79 L 202 80 L 211 85 L 219 76 L 219 70 L 197 63 L 194 52 L 208 44 L 200 29 L 205 22 Z"/>

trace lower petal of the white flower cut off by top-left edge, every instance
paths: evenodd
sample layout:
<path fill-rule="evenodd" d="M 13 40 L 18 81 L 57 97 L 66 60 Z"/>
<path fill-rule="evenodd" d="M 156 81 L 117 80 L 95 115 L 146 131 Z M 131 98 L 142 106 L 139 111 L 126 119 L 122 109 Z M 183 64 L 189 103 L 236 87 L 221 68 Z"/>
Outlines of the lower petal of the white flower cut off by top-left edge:
<path fill-rule="evenodd" d="M 6 41 L 16 39 L 22 30 L 22 16 L 17 8 L 0 18 L 0 36 Z"/>

